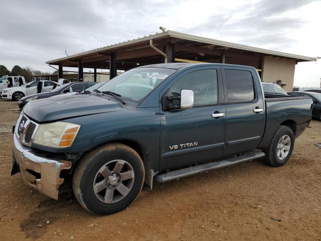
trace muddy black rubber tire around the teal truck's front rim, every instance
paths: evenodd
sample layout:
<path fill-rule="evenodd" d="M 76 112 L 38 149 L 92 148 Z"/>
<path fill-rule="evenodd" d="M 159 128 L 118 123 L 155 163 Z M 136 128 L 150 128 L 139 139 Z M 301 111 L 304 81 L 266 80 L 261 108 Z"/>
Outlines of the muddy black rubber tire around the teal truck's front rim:
<path fill-rule="evenodd" d="M 101 175 L 99 173 L 101 168 L 105 164 L 112 163 L 115 160 L 124 160 L 129 164 L 128 166 L 133 170 L 134 179 L 131 179 L 130 191 L 123 196 L 122 199 L 112 203 L 105 203 L 104 200 L 100 200 L 97 195 L 99 196 L 100 193 L 104 191 L 107 192 L 107 189 L 97 194 L 93 184 L 96 182 L 97 174 L 98 177 Z M 90 151 L 79 160 L 79 164 L 76 166 L 73 174 L 73 191 L 78 202 L 89 212 L 97 215 L 112 214 L 123 210 L 136 199 L 143 186 L 144 176 L 144 165 L 137 152 L 123 144 L 106 144 Z M 101 178 L 104 177 L 101 175 Z M 106 182 L 109 182 L 108 178 Z M 107 186 L 104 188 L 107 188 Z M 120 192 L 115 191 L 115 193 L 121 196 Z"/>

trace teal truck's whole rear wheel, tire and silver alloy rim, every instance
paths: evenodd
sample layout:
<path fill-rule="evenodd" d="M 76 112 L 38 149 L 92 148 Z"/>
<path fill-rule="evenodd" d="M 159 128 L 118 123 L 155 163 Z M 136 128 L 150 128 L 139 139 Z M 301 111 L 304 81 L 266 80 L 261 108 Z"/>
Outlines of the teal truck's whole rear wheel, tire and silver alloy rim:
<path fill-rule="evenodd" d="M 294 135 L 290 128 L 281 126 L 275 132 L 270 147 L 264 150 L 265 161 L 273 166 L 284 165 L 290 158 L 294 147 Z"/>

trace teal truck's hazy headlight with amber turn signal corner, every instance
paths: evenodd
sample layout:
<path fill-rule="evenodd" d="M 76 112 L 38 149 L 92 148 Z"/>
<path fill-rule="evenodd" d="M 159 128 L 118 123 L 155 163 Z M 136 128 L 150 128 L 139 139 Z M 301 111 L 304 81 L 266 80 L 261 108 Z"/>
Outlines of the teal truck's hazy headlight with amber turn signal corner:
<path fill-rule="evenodd" d="M 41 124 L 33 143 L 53 148 L 70 147 L 74 142 L 80 125 L 68 122 Z"/>

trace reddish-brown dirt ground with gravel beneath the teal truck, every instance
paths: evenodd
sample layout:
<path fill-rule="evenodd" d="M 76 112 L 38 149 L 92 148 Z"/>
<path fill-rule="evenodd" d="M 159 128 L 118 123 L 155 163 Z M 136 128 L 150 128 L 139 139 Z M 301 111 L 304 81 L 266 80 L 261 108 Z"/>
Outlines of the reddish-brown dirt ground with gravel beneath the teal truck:
<path fill-rule="evenodd" d="M 0 100 L 0 240 L 321 240 L 321 149 L 313 145 L 321 122 L 311 122 L 283 167 L 256 160 L 154 183 L 126 210 L 95 216 L 70 183 L 56 201 L 10 176 L 19 112 Z"/>

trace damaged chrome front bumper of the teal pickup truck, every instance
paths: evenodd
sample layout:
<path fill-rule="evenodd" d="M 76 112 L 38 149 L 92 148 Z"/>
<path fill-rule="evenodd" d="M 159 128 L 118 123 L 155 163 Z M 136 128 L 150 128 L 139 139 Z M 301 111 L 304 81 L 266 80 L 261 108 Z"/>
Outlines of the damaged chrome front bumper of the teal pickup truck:
<path fill-rule="evenodd" d="M 64 179 L 60 177 L 60 172 L 70 169 L 71 165 L 70 161 L 48 158 L 22 145 L 17 134 L 14 133 L 12 175 L 20 170 L 22 179 L 28 186 L 58 199 L 59 186 L 64 182 Z"/>

